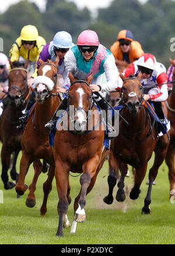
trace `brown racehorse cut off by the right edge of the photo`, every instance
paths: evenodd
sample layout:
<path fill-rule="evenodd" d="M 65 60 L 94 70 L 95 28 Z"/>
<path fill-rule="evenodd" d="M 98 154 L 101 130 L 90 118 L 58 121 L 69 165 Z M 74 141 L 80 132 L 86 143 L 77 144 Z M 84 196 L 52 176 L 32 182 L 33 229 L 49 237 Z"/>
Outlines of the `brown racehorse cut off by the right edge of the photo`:
<path fill-rule="evenodd" d="M 170 63 L 175 67 L 175 61 L 171 60 Z M 173 77 L 175 79 L 175 70 L 173 71 Z M 174 170 L 174 149 L 175 149 L 175 83 L 173 82 L 172 91 L 169 94 L 169 98 L 166 101 L 167 106 L 167 118 L 170 120 L 170 144 L 166 155 L 166 164 L 169 167 L 169 181 L 170 181 L 170 197 L 174 195 L 174 182 L 175 182 L 175 170 Z"/>

